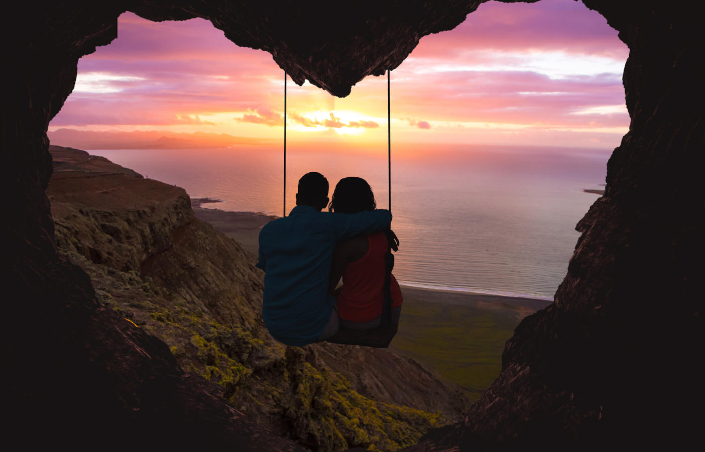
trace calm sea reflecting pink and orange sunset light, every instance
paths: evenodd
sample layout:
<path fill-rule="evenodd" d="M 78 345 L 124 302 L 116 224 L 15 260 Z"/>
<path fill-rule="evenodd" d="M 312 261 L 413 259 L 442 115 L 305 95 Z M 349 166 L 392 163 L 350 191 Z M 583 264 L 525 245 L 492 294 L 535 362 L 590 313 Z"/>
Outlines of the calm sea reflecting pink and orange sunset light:
<path fill-rule="evenodd" d="M 288 149 L 286 212 L 298 178 L 318 171 L 331 194 L 346 176 L 366 179 L 388 208 L 386 145 Z M 575 225 L 603 188 L 612 149 L 395 145 L 394 274 L 421 288 L 552 300 L 568 269 Z M 183 187 L 204 207 L 282 215 L 283 152 L 271 145 L 219 149 L 91 150 L 143 176 Z"/>

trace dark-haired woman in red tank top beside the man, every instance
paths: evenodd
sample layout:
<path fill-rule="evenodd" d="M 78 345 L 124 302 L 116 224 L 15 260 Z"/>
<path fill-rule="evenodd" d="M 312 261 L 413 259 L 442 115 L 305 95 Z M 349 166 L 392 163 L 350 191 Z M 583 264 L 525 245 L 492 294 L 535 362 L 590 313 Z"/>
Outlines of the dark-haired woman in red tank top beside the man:
<path fill-rule="evenodd" d="M 362 178 L 343 178 L 331 197 L 329 211 L 354 214 L 376 209 L 374 194 Z M 381 323 L 384 303 L 384 255 L 388 250 L 384 231 L 343 240 L 336 245 L 331 267 L 330 292 L 338 298 L 338 315 L 345 329 L 375 329 Z M 336 290 L 343 277 L 343 286 Z M 402 296 L 394 275 L 389 288 L 392 324 L 399 323 Z"/>

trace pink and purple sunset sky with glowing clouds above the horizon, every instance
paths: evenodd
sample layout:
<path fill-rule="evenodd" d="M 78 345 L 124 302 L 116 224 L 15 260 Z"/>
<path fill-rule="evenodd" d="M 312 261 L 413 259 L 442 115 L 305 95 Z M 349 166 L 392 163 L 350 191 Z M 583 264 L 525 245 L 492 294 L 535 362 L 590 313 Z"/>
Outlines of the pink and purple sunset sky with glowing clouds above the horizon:
<path fill-rule="evenodd" d="M 629 126 L 627 54 L 580 2 L 482 4 L 454 30 L 423 37 L 392 71 L 392 140 L 612 149 Z M 49 138 L 110 132 L 119 148 L 131 146 L 125 132 L 140 130 L 274 144 L 283 137 L 283 80 L 270 54 L 236 46 L 207 20 L 124 13 L 118 38 L 80 59 Z M 386 112 L 386 77 L 365 78 L 343 99 L 289 80 L 287 139 L 379 144 Z M 104 147 L 92 140 L 83 147 Z"/>

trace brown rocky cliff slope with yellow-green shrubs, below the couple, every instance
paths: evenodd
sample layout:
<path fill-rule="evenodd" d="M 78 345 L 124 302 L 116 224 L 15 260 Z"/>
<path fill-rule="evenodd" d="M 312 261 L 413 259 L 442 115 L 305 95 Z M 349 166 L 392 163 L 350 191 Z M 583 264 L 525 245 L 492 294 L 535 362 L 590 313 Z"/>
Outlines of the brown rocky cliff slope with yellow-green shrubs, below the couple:
<path fill-rule="evenodd" d="M 89 274 L 101 305 L 166 342 L 180 367 L 222 386 L 251 420 L 317 451 L 391 451 L 469 405 L 388 350 L 277 343 L 259 315 L 255 257 L 195 219 L 182 188 L 78 149 L 50 150 L 61 255 Z"/>

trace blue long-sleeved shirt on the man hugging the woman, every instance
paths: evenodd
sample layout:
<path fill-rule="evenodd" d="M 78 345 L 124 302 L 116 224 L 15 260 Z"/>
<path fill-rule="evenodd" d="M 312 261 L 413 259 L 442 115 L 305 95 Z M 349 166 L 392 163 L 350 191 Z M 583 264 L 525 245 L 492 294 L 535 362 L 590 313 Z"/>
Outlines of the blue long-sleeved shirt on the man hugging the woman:
<path fill-rule="evenodd" d="M 264 225 L 257 262 L 265 272 L 262 317 L 277 341 L 289 346 L 317 341 L 336 304 L 328 294 L 336 243 L 384 229 L 391 220 L 384 209 L 333 214 L 296 206 L 289 216 Z"/>

